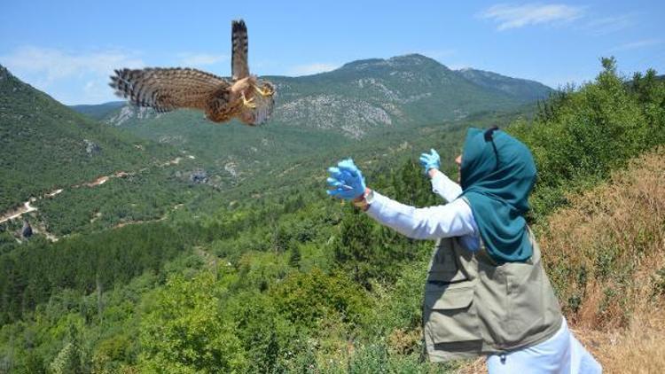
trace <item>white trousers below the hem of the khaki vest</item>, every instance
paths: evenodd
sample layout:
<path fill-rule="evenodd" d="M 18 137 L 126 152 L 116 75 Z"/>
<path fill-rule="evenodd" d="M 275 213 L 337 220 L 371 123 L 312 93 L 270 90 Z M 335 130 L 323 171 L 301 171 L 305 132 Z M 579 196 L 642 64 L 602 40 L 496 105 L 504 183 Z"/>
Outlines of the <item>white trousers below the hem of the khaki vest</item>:
<path fill-rule="evenodd" d="M 489 374 L 598 374 L 599 362 L 568 330 L 566 318 L 552 338 L 505 355 L 489 355 Z"/>

